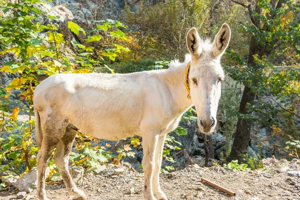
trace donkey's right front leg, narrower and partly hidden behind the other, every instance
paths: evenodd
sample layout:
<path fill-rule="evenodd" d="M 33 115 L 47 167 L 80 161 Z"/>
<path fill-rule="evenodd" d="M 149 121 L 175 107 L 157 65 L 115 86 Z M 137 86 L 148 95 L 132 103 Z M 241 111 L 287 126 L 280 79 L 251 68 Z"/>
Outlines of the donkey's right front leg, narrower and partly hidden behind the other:
<path fill-rule="evenodd" d="M 158 142 L 155 150 L 155 169 L 154 169 L 153 180 L 152 180 L 153 193 L 156 195 L 156 198 L 159 200 L 160 199 L 167 200 L 166 195 L 160 189 L 160 185 L 159 185 L 159 171 L 161 167 L 162 151 L 163 151 L 165 136 L 166 134 L 160 135 L 158 138 Z"/>

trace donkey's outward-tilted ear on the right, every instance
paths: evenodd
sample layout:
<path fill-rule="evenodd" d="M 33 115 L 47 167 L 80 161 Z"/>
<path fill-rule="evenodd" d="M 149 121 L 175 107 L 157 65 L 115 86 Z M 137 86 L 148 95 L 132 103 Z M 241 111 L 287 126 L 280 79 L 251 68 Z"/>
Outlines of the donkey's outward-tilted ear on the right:
<path fill-rule="evenodd" d="M 215 38 L 212 43 L 212 54 L 215 57 L 221 56 L 226 47 L 228 46 L 230 40 L 230 27 L 227 23 L 223 23 L 221 29 L 215 35 Z"/>

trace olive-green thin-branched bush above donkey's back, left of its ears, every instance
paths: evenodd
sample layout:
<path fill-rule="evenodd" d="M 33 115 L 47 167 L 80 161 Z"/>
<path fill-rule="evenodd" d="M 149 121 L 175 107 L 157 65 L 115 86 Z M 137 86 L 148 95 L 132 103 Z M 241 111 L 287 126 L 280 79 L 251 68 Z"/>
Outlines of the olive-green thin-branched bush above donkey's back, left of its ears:
<path fill-rule="evenodd" d="M 186 53 L 186 30 L 195 26 L 201 28 L 200 33 L 207 33 L 203 24 L 211 6 L 213 2 L 206 0 L 171 0 L 154 6 L 141 1 L 137 12 L 131 12 L 125 4 L 120 17 L 136 32 L 138 44 L 146 57 L 165 59 L 178 56 L 182 59 Z"/>

